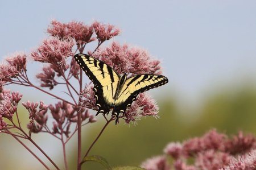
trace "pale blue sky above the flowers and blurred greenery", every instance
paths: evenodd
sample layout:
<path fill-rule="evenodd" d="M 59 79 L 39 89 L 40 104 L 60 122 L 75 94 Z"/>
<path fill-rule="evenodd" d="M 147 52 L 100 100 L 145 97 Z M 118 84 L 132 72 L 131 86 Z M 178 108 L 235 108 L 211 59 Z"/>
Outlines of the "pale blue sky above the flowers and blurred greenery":
<path fill-rule="evenodd" d="M 256 1 L 234 0 L 1 1 L 0 56 L 30 52 L 46 37 L 52 18 L 96 19 L 123 30 L 115 40 L 162 59 L 170 81 L 162 90 L 197 99 L 222 81 L 256 75 L 255 9 Z"/>

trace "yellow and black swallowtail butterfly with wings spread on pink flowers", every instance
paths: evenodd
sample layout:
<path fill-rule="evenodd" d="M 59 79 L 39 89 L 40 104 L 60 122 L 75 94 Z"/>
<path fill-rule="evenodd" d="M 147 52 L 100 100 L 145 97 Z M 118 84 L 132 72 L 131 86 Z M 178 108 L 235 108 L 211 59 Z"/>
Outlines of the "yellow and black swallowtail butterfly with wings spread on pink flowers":
<path fill-rule="evenodd" d="M 77 63 L 93 82 L 94 98 L 98 112 L 96 115 L 115 115 L 117 124 L 120 113 L 124 114 L 139 93 L 164 85 L 168 79 L 158 74 L 141 74 L 127 78 L 127 74 L 120 76 L 108 64 L 86 54 L 74 56 Z"/>

